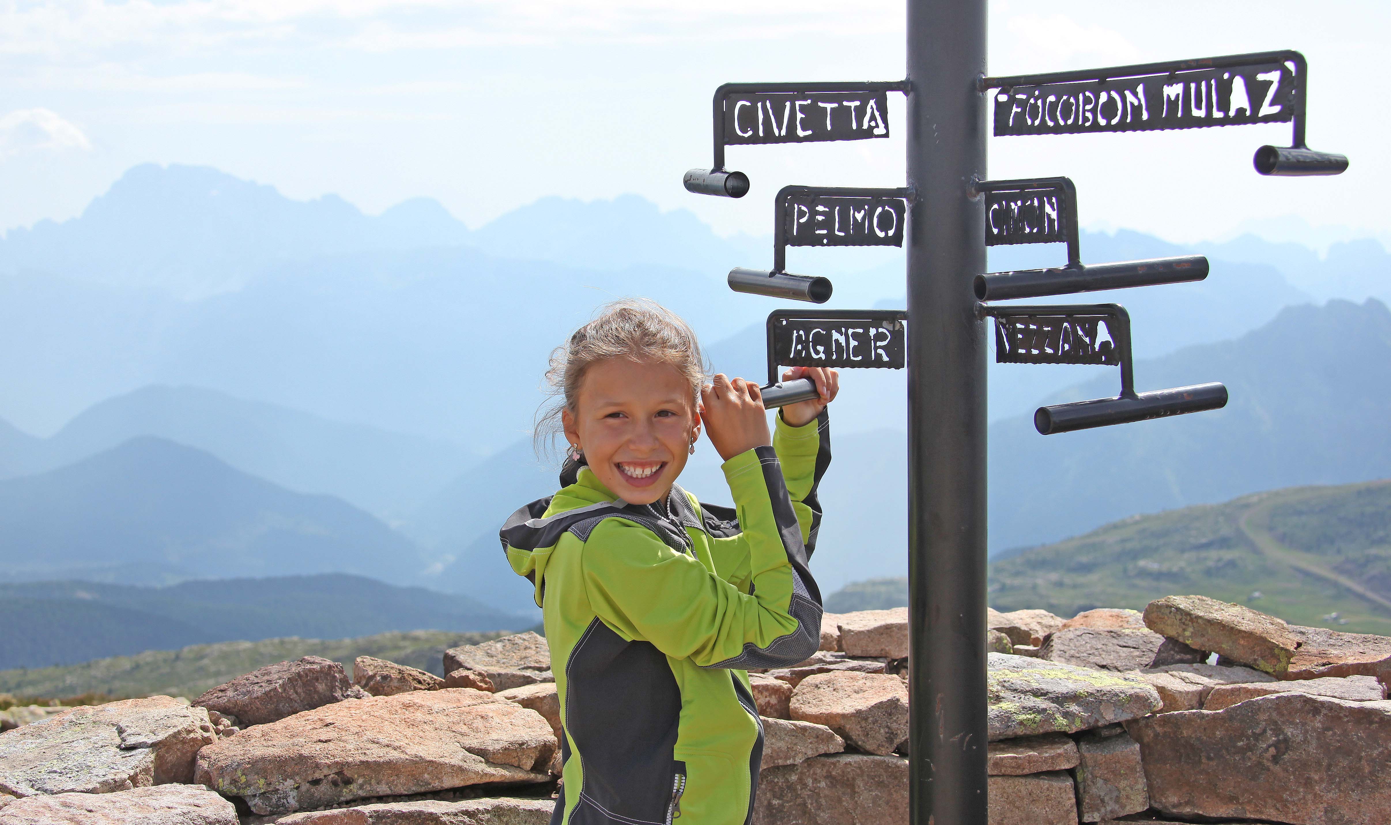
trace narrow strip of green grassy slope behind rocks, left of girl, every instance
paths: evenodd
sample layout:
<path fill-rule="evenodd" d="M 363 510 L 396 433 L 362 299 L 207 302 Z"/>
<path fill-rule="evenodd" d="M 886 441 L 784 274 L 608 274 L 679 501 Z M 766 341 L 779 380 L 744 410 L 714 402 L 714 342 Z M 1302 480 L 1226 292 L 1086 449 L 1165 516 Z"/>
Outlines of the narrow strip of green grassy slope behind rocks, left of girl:
<path fill-rule="evenodd" d="M 61 668 L 0 671 L 0 693 L 40 697 L 82 693 L 167 694 L 193 698 L 209 687 L 256 668 L 306 655 L 342 662 L 349 676 L 353 659 L 360 655 L 391 659 L 440 676 L 445 648 L 477 644 L 504 634 L 412 630 L 332 641 L 289 637 L 195 644 L 182 650 L 147 651 Z"/>

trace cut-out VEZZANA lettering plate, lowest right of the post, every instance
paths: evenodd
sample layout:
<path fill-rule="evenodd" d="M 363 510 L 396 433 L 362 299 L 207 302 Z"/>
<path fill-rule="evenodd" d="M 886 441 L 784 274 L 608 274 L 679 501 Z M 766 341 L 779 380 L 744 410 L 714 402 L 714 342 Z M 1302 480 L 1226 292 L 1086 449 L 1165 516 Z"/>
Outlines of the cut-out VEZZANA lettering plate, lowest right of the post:
<path fill-rule="evenodd" d="M 1106 316 L 995 316 L 997 363 L 1121 363 Z"/>

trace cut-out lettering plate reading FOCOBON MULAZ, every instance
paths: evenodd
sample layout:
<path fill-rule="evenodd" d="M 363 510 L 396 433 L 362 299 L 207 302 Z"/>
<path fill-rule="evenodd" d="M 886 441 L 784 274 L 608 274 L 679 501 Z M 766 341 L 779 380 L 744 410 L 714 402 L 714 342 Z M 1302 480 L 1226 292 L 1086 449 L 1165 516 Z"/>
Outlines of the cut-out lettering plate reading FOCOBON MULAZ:
<path fill-rule="evenodd" d="M 996 135 L 1141 132 L 1285 122 L 1303 93 L 1285 63 L 1015 86 L 995 92 Z"/>

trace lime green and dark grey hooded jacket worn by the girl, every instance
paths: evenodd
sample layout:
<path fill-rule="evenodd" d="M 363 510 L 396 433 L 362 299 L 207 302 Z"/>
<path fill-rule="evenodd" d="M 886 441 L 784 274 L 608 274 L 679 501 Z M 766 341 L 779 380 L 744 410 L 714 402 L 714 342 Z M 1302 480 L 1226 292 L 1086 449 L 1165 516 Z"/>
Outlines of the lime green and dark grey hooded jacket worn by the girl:
<path fill-rule="evenodd" d="M 734 508 L 680 487 L 629 505 L 588 467 L 502 527 L 536 584 L 565 723 L 552 825 L 740 825 L 764 732 L 748 668 L 810 658 L 821 593 L 807 570 L 830 463 L 826 413 L 778 417 L 772 447 L 723 465 Z"/>

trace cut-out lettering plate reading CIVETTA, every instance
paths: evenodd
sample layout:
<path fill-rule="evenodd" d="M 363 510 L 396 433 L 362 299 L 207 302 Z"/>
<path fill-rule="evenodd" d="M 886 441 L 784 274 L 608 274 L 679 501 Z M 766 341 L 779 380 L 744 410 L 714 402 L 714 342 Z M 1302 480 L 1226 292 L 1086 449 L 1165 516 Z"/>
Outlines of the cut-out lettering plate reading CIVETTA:
<path fill-rule="evenodd" d="M 725 99 L 727 145 L 887 136 L 887 92 L 748 92 Z"/>

